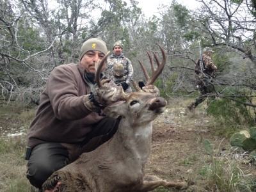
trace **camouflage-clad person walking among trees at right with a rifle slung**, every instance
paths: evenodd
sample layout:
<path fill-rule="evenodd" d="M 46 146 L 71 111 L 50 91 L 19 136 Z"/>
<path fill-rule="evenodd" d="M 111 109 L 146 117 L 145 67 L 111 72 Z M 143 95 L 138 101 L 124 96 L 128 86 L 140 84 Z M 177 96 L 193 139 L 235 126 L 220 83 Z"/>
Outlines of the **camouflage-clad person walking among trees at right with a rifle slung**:
<path fill-rule="evenodd" d="M 198 59 L 196 61 L 195 76 L 196 76 L 196 79 L 198 80 L 197 86 L 200 90 L 201 95 L 199 95 L 196 98 L 195 102 L 192 102 L 188 106 L 189 111 L 192 111 L 193 109 L 196 108 L 196 106 L 198 106 L 198 104 L 204 102 L 206 97 L 203 95 L 207 93 L 212 93 L 214 90 L 212 86 L 212 78 L 214 78 L 214 71 L 217 70 L 217 67 L 212 63 L 212 58 L 211 58 L 212 52 L 213 51 L 211 50 L 205 50 L 204 54 L 202 54 L 202 59 L 204 60 L 203 71 L 202 71 L 202 67 L 200 67 L 201 59 Z"/>

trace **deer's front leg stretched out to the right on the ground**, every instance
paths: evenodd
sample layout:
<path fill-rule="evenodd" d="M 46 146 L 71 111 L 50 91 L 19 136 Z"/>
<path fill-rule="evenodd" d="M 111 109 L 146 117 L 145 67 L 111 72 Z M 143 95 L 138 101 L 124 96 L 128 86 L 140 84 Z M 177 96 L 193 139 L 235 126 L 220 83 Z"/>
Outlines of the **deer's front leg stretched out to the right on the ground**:
<path fill-rule="evenodd" d="M 140 186 L 141 191 L 151 191 L 159 186 L 165 186 L 169 188 L 185 189 L 188 187 L 188 183 L 183 182 L 167 182 L 166 180 L 160 179 L 154 175 L 145 175 L 142 185 Z"/>

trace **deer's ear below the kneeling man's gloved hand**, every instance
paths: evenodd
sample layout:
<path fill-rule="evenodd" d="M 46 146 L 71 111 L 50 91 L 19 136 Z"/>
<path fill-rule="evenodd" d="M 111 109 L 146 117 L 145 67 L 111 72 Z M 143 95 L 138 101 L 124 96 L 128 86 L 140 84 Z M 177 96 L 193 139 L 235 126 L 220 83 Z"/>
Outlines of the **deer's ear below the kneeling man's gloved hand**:
<path fill-rule="evenodd" d="M 124 100 L 120 100 L 118 102 L 115 102 L 114 104 L 107 106 L 105 109 L 103 109 L 104 115 L 112 118 L 118 118 L 118 116 L 125 113 L 123 108 L 124 103 Z"/>

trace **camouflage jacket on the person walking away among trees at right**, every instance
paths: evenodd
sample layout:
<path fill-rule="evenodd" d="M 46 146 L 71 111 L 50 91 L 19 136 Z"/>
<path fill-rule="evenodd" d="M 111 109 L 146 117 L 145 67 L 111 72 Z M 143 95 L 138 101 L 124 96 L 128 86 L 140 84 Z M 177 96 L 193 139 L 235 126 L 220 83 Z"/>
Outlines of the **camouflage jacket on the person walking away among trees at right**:
<path fill-rule="evenodd" d="M 209 76 L 213 76 L 214 74 L 214 70 L 217 69 L 217 67 L 212 63 L 212 58 L 209 56 L 206 56 L 205 54 L 202 55 L 203 56 L 203 60 L 204 60 L 204 64 L 205 64 L 205 73 Z M 196 69 L 200 70 L 200 59 L 198 59 L 196 61 Z M 200 77 L 200 72 L 195 71 L 196 73 L 196 77 Z"/>

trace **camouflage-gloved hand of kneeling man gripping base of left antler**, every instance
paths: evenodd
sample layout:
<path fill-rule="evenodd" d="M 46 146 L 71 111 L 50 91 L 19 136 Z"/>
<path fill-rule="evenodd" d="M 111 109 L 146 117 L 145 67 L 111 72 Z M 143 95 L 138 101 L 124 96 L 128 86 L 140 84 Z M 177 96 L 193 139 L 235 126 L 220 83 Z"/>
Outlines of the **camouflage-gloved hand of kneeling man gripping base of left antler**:
<path fill-rule="evenodd" d="M 93 99 L 99 106 L 105 107 L 121 99 L 124 92 L 122 86 L 117 86 L 110 79 L 104 79 L 101 83 L 102 86 L 93 91 Z"/>

